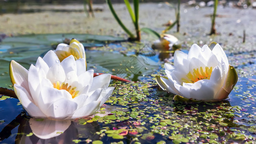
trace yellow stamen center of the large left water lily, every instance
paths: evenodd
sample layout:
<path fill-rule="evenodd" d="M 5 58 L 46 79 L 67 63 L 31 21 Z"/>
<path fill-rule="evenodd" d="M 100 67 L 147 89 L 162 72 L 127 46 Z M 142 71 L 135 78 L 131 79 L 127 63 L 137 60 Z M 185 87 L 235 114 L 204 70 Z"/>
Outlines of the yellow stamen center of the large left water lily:
<path fill-rule="evenodd" d="M 78 93 L 79 93 L 79 91 L 76 90 L 76 87 L 72 87 L 71 85 L 68 86 L 67 83 L 60 84 L 59 81 L 54 83 L 54 88 L 56 88 L 58 90 L 62 90 L 62 89 L 66 90 L 72 96 L 72 98 L 77 97 Z"/>

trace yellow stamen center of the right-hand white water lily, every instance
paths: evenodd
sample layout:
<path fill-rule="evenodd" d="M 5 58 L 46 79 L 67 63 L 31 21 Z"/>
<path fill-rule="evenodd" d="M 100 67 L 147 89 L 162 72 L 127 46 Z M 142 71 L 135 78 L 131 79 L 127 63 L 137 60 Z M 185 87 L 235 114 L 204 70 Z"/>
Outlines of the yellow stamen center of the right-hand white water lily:
<path fill-rule="evenodd" d="M 186 76 L 187 78 L 182 78 L 181 80 L 184 83 L 195 83 L 199 80 L 203 80 L 203 79 L 210 79 L 211 74 L 213 72 L 213 67 L 205 67 L 205 69 L 203 69 L 202 67 L 200 67 L 199 69 L 194 69 L 193 72 L 189 72 Z"/>

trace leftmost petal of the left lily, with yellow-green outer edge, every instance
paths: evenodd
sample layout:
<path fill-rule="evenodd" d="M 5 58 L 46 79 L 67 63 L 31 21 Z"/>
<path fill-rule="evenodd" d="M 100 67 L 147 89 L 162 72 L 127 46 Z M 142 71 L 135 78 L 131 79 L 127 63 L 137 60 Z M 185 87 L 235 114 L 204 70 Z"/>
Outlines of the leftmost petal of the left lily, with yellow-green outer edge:
<path fill-rule="evenodd" d="M 21 66 L 18 62 L 12 60 L 10 63 L 10 77 L 13 84 L 18 84 L 29 91 L 27 82 L 27 69 Z"/>

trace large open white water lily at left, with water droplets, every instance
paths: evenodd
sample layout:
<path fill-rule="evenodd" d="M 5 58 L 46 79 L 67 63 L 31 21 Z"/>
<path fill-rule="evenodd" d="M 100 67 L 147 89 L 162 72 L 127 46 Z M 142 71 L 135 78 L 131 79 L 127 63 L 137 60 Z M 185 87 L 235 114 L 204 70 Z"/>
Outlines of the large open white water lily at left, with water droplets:
<path fill-rule="evenodd" d="M 28 114 L 34 118 L 73 120 L 99 110 L 111 95 L 110 74 L 93 77 L 86 71 L 85 60 L 73 55 L 60 60 L 50 50 L 38 58 L 29 70 L 14 60 L 10 77 L 15 94 Z"/>

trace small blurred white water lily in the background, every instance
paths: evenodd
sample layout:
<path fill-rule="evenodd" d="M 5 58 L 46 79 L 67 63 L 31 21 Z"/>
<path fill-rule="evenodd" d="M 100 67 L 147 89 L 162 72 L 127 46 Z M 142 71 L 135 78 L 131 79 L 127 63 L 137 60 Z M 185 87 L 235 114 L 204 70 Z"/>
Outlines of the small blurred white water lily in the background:
<path fill-rule="evenodd" d="M 160 39 L 153 42 L 152 48 L 159 50 L 169 50 L 178 41 L 173 35 L 164 34 Z"/>

